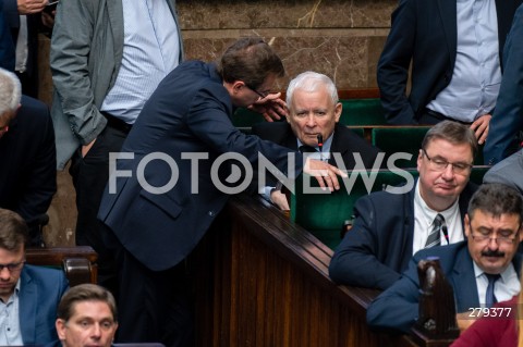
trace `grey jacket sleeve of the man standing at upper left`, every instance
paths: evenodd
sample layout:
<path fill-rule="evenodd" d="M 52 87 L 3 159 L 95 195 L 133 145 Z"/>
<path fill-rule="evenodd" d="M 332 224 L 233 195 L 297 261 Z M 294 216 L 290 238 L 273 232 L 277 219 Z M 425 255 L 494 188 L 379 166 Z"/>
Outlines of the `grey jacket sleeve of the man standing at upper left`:
<path fill-rule="evenodd" d="M 82 145 L 93 141 L 106 119 L 94 104 L 88 59 L 94 32 L 93 1 L 60 1 L 51 39 L 52 83 L 63 115 Z"/>

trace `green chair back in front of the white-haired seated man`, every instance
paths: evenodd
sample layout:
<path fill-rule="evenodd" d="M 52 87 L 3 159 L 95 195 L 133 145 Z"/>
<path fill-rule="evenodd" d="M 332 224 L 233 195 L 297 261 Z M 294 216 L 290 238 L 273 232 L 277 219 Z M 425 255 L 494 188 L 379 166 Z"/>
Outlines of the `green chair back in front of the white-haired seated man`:
<path fill-rule="evenodd" d="M 351 175 L 355 178 L 350 181 Z M 365 179 L 362 175 L 365 175 Z M 378 172 L 350 171 L 346 184 L 340 190 L 326 194 L 311 194 L 306 187 L 318 189 L 317 181 L 308 175 L 296 178 L 294 193 L 290 196 L 290 220 L 300 224 L 325 245 L 335 249 L 341 240 L 341 231 L 345 221 L 353 218 L 355 201 L 370 191 L 389 189 L 406 183 L 405 175 L 417 176 L 416 170 L 397 172 L 380 170 Z M 305 183 L 308 182 L 306 186 Z"/>

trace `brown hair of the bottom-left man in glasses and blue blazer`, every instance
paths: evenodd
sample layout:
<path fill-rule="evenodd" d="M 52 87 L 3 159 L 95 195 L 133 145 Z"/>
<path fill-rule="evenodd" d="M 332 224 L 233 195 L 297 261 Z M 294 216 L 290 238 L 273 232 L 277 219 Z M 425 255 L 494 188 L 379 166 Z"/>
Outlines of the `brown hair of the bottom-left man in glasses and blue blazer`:
<path fill-rule="evenodd" d="M 19 213 L 0 209 L 0 248 L 16 251 L 25 246 L 29 231 Z"/>

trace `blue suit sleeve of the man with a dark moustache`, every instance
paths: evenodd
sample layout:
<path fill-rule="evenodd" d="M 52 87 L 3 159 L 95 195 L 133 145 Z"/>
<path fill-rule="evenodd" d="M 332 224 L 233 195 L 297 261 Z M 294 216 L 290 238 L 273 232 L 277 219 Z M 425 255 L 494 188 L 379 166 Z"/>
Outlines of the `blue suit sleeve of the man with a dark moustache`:
<path fill-rule="evenodd" d="M 413 257 L 403 276 L 381 293 L 367 308 L 372 329 L 409 333 L 418 317 L 419 282 L 417 257 Z"/>

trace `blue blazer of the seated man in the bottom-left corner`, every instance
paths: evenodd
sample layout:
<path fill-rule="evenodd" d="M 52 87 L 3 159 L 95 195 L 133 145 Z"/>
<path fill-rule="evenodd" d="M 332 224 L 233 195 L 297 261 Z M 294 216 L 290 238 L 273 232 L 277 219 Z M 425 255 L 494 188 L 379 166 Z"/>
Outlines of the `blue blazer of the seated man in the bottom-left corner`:
<path fill-rule="evenodd" d="M 24 265 L 20 274 L 20 327 L 24 346 L 58 338 L 54 321 L 69 282 L 61 270 Z"/>

